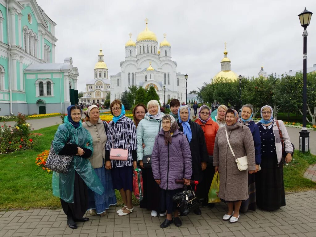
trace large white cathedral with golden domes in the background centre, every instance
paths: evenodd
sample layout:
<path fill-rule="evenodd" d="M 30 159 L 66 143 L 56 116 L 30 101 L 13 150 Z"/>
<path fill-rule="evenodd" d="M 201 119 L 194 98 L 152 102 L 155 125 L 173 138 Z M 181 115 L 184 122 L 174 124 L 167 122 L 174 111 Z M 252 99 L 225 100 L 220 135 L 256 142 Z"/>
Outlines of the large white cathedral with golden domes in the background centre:
<path fill-rule="evenodd" d="M 157 37 L 148 29 L 146 19 L 146 28 L 138 34 L 136 43 L 131 36 L 130 33 L 130 40 L 125 44 L 121 71 L 110 76 L 111 102 L 121 98 L 123 91 L 132 85 L 144 89 L 155 87 L 161 104 L 167 103 L 170 98 L 185 101 L 185 75 L 177 72 L 177 63 L 171 59 L 171 46 L 166 34 L 158 48 Z"/>

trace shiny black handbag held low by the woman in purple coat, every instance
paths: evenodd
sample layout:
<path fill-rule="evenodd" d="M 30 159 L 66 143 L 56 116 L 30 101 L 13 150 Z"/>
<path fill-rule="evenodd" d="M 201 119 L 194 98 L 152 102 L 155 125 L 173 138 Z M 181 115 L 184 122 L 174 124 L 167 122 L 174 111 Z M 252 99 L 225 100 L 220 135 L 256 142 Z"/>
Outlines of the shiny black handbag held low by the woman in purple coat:
<path fill-rule="evenodd" d="M 191 185 L 190 185 L 191 186 Z M 197 198 L 195 191 L 187 190 L 184 185 L 184 191 L 178 192 L 172 197 L 173 202 L 177 203 L 176 209 L 179 210 L 179 216 L 187 216 L 191 211 L 197 209 L 201 202 Z"/>

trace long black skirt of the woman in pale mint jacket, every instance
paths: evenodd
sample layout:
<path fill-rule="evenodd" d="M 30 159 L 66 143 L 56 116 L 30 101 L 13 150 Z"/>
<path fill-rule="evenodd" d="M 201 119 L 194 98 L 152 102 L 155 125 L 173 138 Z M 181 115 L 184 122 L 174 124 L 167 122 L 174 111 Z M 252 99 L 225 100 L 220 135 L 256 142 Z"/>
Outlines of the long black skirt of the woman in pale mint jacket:
<path fill-rule="evenodd" d="M 144 198 L 140 201 L 140 207 L 147 210 L 154 210 L 158 213 L 164 213 L 161 210 L 161 188 L 156 183 L 151 168 L 142 169 Z"/>

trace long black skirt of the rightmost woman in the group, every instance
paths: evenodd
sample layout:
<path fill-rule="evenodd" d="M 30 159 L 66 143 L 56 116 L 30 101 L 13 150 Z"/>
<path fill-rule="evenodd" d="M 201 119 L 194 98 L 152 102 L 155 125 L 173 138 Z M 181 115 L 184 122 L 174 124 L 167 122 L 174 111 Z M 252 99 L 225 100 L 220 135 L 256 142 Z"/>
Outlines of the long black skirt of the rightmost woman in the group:
<path fill-rule="evenodd" d="M 277 210 L 285 206 L 283 164 L 277 164 L 276 154 L 261 156 L 261 171 L 256 173 L 257 205 L 263 210 Z"/>

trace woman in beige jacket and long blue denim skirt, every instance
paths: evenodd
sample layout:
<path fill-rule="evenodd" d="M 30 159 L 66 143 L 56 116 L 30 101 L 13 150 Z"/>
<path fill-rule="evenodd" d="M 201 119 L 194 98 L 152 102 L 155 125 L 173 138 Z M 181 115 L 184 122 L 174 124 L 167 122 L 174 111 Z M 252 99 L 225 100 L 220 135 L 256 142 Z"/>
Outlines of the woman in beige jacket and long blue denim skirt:
<path fill-rule="evenodd" d="M 100 119 L 100 110 L 98 106 L 89 106 L 85 112 L 85 123 L 82 127 L 87 129 L 93 140 L 93 155 L 88 159 L 94 168 L 95 173 L 98 175 L 101 184 L 104 187 L 104 192 L 99 195 L 90 189 L 88 190 L 88 208 L 90 215 L 104 216 L 106 210 L 110 205 L 116 204 L 115 191 L 112 184 L 111 170 L 107 170 L 104 165 L 105 159 L 105 144 L 107 142 L 107 123 Z"/>

